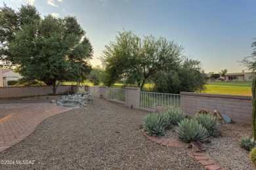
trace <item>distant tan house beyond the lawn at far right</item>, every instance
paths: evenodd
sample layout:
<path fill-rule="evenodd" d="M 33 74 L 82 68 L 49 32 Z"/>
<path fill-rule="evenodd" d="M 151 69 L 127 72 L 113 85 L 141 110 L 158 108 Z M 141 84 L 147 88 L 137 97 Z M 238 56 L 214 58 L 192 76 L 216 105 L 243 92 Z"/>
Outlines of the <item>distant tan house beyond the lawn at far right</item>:
<path fill-rule="evenodd" d="M 237 81 L 237 82 L 249 82 L 251 81 L 251 73 L 245 73 L 242 70 L 242 73 L 226 73 L 226 81 Z"/>

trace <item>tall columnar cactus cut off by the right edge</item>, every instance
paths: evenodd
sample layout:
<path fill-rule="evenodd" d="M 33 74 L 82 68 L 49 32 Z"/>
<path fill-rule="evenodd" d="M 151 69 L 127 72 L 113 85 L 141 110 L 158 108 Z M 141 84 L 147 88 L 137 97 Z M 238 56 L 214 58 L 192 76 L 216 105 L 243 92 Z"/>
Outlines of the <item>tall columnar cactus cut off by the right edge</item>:
<path fill-rule="evenodd" d="M 251 92 L 253 94 L 252 98 L 252 105 L 253 105 L 253 110 L 252 110 L 252 123 L 253 123 L 253 137 L 256 139 L 256 75 L 253 76 L 253 84 L 251 86 Z"/>

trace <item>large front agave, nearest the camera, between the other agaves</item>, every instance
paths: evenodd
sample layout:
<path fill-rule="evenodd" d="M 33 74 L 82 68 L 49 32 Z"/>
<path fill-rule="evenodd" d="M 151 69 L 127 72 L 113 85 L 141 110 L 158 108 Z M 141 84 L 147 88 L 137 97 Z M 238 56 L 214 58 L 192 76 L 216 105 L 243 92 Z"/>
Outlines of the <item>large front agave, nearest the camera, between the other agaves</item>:
<path fill-rule="evenodd" d="M 202 124 L 198 124 L 197 120 L 184 119 L 178 123 L 177 133 L 179 139 L 185 143 L 190 143 L 192 141 L 206 142 L 208 141 L 209 132 Z"/>

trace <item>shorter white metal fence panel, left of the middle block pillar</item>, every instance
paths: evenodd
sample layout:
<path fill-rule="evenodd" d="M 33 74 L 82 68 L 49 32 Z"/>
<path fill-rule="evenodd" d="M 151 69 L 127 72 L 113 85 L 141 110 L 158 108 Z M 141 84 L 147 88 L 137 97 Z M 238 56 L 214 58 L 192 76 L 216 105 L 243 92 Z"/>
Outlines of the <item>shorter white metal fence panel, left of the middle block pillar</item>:
<path fill-rule="evenodd" d="M 125 89 L 107 88 L 107 99 L 125 103 Z"/>

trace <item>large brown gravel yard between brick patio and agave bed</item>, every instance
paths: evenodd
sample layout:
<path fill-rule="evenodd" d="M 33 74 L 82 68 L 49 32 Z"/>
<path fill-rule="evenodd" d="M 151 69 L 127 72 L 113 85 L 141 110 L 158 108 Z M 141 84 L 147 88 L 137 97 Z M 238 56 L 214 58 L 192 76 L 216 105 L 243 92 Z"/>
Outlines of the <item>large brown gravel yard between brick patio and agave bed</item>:
<path fill-rule="evenodd" d="M 48 118 L 30 137 L 0 152 L 1 160 L 35 160 L 34 165 L 0 165 L 0 169 L 205 169 L 190 149 L 148 141 L 139 129 L 145 114 L 95 99 L 87 108 Z"/>

